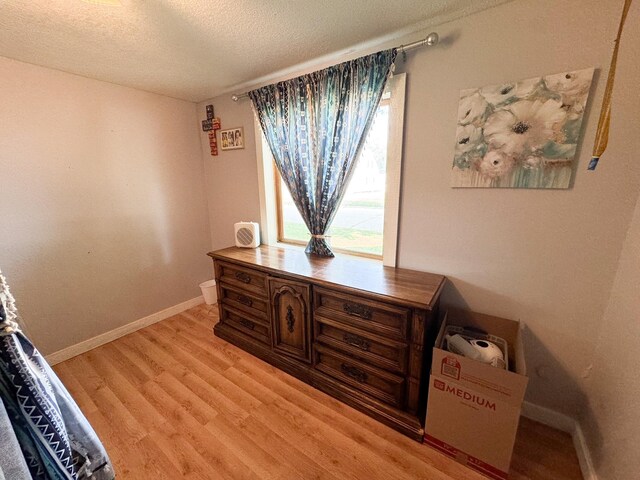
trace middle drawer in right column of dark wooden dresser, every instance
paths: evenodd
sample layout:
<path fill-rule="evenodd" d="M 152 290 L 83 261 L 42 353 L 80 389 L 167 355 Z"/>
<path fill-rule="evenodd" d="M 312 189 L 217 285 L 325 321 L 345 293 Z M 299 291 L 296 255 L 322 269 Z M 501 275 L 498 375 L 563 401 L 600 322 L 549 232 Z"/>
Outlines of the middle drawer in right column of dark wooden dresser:
<path fill-rule="evenodd" d="M 356 356 L 376 367 L 401 374 L 407 371 L 407 345 L 402 342 L 317 314 L 314 317 L 314 331 L 317 342 Z"/>

